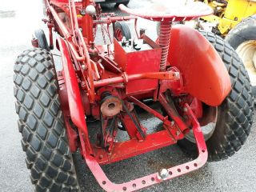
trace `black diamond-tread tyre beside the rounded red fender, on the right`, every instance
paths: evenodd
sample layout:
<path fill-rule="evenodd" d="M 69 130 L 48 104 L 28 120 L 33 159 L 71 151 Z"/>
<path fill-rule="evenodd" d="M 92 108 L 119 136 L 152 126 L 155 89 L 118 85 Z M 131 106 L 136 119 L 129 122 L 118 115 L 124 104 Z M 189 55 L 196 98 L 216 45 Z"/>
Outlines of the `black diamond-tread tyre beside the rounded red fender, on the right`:
<path fill-rule="evenodd" d="M 200 31 L 214 46 L 230 74 L 232 90 L 218 106 L 214 134 L 206 141 L 209 161 L 219 161 L 232 156 L 246 142 L 253 122 L 253 94 L 250 79 L 235 50 L 211 32 Z M 178 142 L 186 154 L 195 157 L 197 147 L 186 138 Z"/>

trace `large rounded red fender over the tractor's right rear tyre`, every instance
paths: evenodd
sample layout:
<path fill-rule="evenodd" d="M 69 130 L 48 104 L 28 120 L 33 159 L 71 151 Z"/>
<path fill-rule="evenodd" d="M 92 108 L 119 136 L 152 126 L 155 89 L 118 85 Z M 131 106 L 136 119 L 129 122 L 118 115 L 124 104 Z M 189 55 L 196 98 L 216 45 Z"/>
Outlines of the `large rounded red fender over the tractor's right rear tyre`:
<path fill-rule="evenodd" d="M 181 71 L 185 92 L 207 105 L 219 106 L 230 93 L 230 76 L 222 58 L 197 30 L 173 26 L 168 62 Z"/>

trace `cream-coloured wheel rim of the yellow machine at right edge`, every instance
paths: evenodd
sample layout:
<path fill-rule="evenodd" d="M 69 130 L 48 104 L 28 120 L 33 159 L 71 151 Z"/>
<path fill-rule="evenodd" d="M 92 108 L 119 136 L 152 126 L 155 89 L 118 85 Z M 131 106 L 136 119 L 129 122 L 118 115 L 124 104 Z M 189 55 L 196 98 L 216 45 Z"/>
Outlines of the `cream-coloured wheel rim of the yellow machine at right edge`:
<path fill-rule="evenodd" d="M 236 51 L 246 67 L 251 85 L 256 86 L 256 40 L 243 42 Z"/>

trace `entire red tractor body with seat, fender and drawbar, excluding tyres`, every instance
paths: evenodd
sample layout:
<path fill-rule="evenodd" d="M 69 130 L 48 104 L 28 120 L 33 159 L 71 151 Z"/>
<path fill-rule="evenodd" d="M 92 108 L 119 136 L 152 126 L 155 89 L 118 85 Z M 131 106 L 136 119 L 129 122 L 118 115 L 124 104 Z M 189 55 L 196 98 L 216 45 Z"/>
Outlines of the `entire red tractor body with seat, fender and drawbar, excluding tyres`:
<path fill-rule="evenodd" d="M 54 47 L 52 30 L 59 34 L 56 47 L 63 68 L 57 75 L 58 94 L 69 149 L 72 153 L 80 150 L 99 185 L 106 191 L 139 190 L 202 167 L 208 151 L 201 126 L 216 122 L 216 109 L 230 93 L 230 77 L 202 34 L 186 26 L 172 26 L 172 22 L 189 21 L 211 14 L 212 10 L 194 2 L 182 13 L 172 14 L 156 6 L 149 14 L 147 10 L 139 12 L 120 5 L 131 16 L 116 17 L 101 14 L 100 7 L 88 0 L 50 0 L 46 7 L 49 19 L 43 21 L 49 28 L 50 48 Z M 146 36 L 145 30 L 137 31 L 138 18 L 160 22 L 156 42 Z M 114 28 L 115 22 L 131 19 L 136 39 L 116 34 L 112 40 L 110 25 Z M 104 42 L 107 34 L 111 44 L 95 45 L 98 25 Z M 33 45 L 38 46 L 35 39 Z M 161 110 L 146 105 L 146 100 L 158 103 Z M 158 118 L 162 129 L 147 131 L 138 109 Z M 90 119 L 99 122 L 100 131 L 94 138 L 88 126 Z M 118 141 L 118 131 L 126 131 L 129 139 Z M 191 162 L 164 167 L 122 184 L 110 182 L 101 168 L 174 145 L 189 133 L 194 134 L 198 149 L 198 158 Z"/>

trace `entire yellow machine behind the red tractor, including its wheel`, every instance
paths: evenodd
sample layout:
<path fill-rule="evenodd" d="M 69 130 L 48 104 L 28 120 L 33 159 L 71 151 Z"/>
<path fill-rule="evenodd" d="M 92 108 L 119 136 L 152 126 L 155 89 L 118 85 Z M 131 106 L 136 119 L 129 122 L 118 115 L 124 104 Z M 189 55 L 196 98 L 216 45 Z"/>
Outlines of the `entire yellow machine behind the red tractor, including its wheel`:
<path fill-rule="evenodd" d="M 256 0 L 196 1 L 213 8 L 214 14 L 203 17 L 198 26 L 205 30 L 210 26 L 208 30 L 225 37 L 236 50 L 249 75 L 256 105 Z"/>

